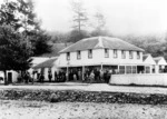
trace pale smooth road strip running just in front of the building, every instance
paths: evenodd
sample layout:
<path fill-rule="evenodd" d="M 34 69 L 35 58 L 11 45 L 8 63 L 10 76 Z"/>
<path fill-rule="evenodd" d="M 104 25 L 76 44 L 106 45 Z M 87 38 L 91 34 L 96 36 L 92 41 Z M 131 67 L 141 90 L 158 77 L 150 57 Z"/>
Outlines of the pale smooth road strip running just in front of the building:
<path fill-rule="evenodd" d="M 50 90 L 85 90 L 85 91 L 109 91 L 109 92 L 135 92 L 135 93 L 164 93 L 167 95 L 165 87 L 131 87 L 131 86 L 110 86 L 107 83 L 35 83 L 23 86 L 0 86 L 3 89 L 50 89 Z"/>

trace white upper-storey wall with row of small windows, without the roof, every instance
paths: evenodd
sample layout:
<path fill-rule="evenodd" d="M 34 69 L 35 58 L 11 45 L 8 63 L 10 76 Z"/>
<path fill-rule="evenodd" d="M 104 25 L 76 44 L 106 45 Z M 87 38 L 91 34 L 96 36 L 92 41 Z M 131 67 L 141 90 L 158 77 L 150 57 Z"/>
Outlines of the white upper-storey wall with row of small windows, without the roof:
<path fill-rule="evenodd" d="M 91 53 L 89 54 L 89 52 Z M 121 73 L 130 73 L 126 70 L 131 67 L 131 72 L 132 68 L 135 68 L 134 72 L 137 72 L 137 66 L 144 66 L 143 52 L 111 49 L 92 49 L 61 53 L 59 57 L 59 67 L 85 66 L 100 66 L 101 68 L 104 66 L 117 66 L 118 70 L 121 71 Z"/>

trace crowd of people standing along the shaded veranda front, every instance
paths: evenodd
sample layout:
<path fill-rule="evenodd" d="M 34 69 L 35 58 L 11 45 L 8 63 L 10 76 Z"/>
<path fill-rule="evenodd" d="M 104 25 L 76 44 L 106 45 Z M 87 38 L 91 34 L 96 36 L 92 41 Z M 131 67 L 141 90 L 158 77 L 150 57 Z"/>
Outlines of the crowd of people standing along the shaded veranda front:
<path fill-rule="evenodd" d="M 69 69 L 59 70 L 51 72 L 48 71 L 48 80 L 45 80 L 46 76 L 42 72 L 33 71 L 32 76 L 28 71 L 21 72 L 18 77 L 18 82 L 33 82 L 35 80 L 38 82 L 65 82 L 65 81 L 80 81 L 80 82 L 106 82 L 108 83 L 112 73 L 116 73 L 116 70 L 112 69 L 98 69 L 98 68 L 87 68 L 82 72 L 81 69 Z M 36 76 L 36 77 L 35 77 Z"/>

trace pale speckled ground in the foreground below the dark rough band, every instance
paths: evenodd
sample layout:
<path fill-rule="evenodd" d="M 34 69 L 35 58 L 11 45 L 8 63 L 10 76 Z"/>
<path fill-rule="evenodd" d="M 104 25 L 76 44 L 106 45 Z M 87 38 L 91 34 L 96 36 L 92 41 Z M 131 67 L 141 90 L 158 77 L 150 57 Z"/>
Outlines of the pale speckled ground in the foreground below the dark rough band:
<path fill-rule="evenodd" d="M 0 100 L 0 119 L 166 119 L 167 106 Z"/>

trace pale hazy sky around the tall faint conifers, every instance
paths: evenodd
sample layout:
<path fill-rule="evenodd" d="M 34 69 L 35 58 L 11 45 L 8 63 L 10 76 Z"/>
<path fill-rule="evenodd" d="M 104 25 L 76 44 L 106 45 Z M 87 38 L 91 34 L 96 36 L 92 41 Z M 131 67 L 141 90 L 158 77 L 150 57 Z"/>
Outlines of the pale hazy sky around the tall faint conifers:
<path fill-rule="evenodd" d="M 0 0 L 2 1 L 2 0 Z M 71 0 L 35 0 L 36 12 L 48 31 L 69 31 Z M 167 32 L 167 0 L 82 0 L 88 16 L 100 10 L 106 28 L 117 34 Z"/>

